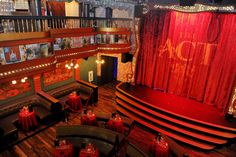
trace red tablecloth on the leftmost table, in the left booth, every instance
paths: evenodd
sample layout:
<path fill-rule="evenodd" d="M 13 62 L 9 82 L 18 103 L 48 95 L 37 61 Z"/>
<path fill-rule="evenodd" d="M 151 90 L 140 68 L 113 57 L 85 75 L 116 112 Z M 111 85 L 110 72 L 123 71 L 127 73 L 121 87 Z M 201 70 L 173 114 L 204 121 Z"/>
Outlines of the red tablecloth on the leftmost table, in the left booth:
<path fill-rule="evenodd" d="M 35 112 L 29 112 L 29 110 L 21 109 L 19 112 L 19 124 L 24 130 L 29 130 L 31 127 L 36 127 L 38 123 Z"/>

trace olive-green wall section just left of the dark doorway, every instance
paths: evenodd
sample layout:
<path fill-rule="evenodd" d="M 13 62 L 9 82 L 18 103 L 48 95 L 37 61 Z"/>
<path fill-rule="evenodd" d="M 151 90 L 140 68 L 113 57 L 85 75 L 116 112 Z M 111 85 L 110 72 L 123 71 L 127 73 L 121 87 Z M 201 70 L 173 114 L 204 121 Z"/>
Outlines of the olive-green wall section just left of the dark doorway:
<path fill-rule="evenodd" d="M 88 59 L 82 59 L 80 63 L 80 79 L 89 82 L 88 73 L 93 71 L 93 81 L 92 83 L 98 84 L 97 77 L 97 57 L 89 57 Z"/>

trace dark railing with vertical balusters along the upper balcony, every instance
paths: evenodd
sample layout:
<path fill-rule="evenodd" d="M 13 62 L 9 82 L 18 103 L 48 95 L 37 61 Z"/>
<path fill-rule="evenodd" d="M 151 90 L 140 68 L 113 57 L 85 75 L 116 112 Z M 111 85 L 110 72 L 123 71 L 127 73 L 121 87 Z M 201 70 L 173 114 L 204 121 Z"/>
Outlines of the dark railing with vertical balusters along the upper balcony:
<path fill-rule="evenodd" d="M 123 27 L 130 28 L 132 19 L 84 18 L 57 16 L 0 16 L 0 33 L 42 32 L 59 28 Z"/>

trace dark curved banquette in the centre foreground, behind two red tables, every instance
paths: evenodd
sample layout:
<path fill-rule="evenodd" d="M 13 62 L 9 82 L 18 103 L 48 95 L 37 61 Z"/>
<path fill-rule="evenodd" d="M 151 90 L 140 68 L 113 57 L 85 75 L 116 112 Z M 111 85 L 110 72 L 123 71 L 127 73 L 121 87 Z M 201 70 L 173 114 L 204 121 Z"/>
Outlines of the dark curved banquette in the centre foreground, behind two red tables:
<path fill-rule="evenodd" d="M 56 138 L 67 140 L 80 149 L 82 143 L 93 143 L 101 156 L 114 156 L 125 142 L 123 134 L 88 125 L 66 125 L 56 128 Z"/>

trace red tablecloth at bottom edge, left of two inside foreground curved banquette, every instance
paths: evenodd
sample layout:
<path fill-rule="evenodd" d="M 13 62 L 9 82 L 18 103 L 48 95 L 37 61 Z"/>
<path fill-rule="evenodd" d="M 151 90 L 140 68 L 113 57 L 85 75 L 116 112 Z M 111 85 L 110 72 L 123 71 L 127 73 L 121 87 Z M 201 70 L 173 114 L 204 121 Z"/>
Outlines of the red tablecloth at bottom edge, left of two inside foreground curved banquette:
<path fill-rule="evenodd" d="M 58 146 L 53 151 L 53 157 L 73 157 L 72 144 Z"/>

